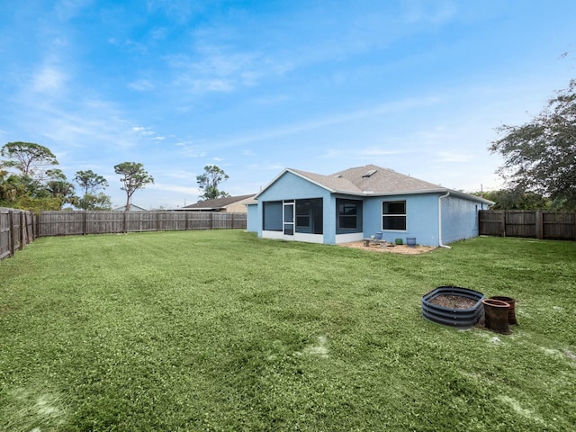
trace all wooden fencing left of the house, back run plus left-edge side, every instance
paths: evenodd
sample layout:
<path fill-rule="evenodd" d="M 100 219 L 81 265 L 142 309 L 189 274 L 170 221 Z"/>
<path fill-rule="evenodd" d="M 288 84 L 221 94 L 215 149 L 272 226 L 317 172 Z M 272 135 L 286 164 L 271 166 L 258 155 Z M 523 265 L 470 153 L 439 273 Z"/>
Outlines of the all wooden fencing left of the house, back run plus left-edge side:
<path fill-rule="evenodd" d="M 246 213 L 213 211 L 31 211 L 0 208 L 0 259 L 34 238 L 194 229 L 246 229 Z"/>

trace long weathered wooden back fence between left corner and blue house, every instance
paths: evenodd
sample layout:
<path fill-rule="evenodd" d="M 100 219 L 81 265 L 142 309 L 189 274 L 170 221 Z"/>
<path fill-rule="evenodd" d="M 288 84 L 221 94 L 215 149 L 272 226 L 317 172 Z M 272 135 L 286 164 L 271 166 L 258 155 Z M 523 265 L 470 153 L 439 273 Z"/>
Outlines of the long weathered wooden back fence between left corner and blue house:
<path fill-rule="evenodd" d="M 38 237 L 193 229 L 246 229 L 246 213 L 213 211 L 42 211 Z"/>

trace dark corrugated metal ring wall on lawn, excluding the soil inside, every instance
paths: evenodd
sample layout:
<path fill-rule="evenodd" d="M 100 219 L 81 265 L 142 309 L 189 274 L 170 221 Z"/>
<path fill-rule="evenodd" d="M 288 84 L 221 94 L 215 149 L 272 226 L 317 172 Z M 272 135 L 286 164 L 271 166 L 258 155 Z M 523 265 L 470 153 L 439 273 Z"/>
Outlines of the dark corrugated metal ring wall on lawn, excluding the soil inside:
<path fill-rule="evenodd" d="M 433 301 L 440 295 L 457 295 L 472 299 L 475 304 L 472 308 L 450 309 Z M 482 299 L 484 294 L 468 288 L 459 286 L 439 286 L 430 293 L 422 296 L 422 316 L 427 320 L 443 324 L 445 326 L 455 327 L 457 329 L 470 329 L 480 320 L 484 307 Z"/>

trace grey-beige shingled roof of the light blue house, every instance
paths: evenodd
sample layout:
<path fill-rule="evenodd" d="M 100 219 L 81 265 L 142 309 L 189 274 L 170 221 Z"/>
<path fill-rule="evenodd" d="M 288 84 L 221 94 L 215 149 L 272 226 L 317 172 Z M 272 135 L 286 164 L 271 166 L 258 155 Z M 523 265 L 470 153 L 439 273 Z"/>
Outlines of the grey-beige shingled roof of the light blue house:
<path fill-rule="evenodd" d="M 299 169 L 286 168 L 284 171 L 275 177 L 275 179 L 268 184 L 266 188 L 274 184 L 286 172 L 293 175 L 298 175 L 313 184 L 318 184 L 320 187 L 329 190 L 331 193 L 347 193 L 362 196 L 374 195 L 394 195 L 394 194 L 409 194 L 409 193 L 453 193 L 457 196 L 466 197 L 473 201 L 484 202 L 491 204 L 493 202 L 480 198 L 478 196 L 470 195 L 468 193 L 458 192 L 448 189 L 440 184 L 433 184 L 411 175 L 403 175 L 393 171 L 392 169 L 383 168 L 381 166 L 366 165 L 348 168 L 344 171 L 331 175 L 321 175 L 301 171 Z M 260 194 L 258 193 L 257 196 Z"/>

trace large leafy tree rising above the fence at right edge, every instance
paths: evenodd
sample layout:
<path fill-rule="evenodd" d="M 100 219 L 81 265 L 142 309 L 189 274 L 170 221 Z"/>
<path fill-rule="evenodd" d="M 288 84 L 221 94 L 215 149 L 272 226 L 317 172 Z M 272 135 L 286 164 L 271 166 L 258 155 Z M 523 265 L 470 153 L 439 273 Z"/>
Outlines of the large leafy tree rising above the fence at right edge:
<path fill-rule="evenodd" d="M 576 80 L 522 126 L 500 126 L 490 150 L 504 157 L 500 175 L 513 189 L 541 193 L 563 210 L 576 208 Z"/>

